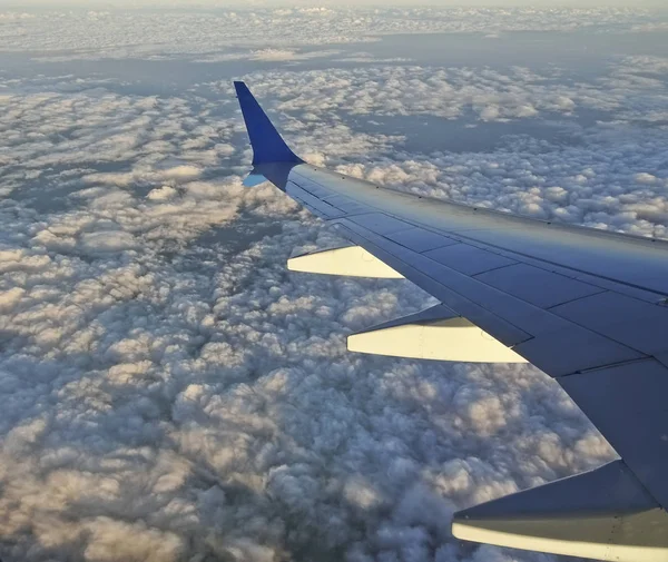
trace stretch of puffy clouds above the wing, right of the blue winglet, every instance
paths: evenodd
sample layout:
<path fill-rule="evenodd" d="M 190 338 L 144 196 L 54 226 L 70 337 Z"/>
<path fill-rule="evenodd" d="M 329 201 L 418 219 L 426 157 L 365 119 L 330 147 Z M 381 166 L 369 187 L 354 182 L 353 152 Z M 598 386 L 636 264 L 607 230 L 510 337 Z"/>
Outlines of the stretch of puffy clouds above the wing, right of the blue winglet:
<path fill-rule="evenodd" d="M 306 116 L 285 129 L 314 164 L 421 195 L 668 237 L 668 95 L 660 79 L 639 80 L 644 75 L 623 61 L 610 75 L 578 83 L 554 83 L 552 76 L 523 68 L 415 66 L 328 70 L 326 79 L 320 71 L 250 79 L 261 95 L 278 100 L 277 109 Z M 230 91 L 227 83 L 219 87 L 222 95 Z M 598 116 L 595 127 L 582 125 L 580 116 L 589 112 Z M 435 131 L 420 131 L 432 139 L 426 155 L 411 151 L 405 136 L 355 132 L 360 118 L 402 118 L 407 129 L 425 116 L 442 118 Z M 539 118 L 542 138 L 502 134 Z M 491 154 L 462 148 L 461 122 L 480 137 L 499 137 Z M 444 136 L 448 150 L 440 150 Z"/>

